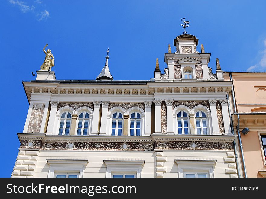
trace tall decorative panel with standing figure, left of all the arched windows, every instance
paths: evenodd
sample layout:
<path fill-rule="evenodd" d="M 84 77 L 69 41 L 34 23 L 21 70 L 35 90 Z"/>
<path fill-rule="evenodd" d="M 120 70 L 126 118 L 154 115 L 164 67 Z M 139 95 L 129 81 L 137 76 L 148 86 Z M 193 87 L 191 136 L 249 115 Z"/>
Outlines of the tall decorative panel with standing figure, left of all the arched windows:
<path fill-rule="evenodd" d="M 33 104 L 30 122 L 28 125 L 28 133 L 40 133 L 41 121 L 44 114 L 45 104 Z"/>

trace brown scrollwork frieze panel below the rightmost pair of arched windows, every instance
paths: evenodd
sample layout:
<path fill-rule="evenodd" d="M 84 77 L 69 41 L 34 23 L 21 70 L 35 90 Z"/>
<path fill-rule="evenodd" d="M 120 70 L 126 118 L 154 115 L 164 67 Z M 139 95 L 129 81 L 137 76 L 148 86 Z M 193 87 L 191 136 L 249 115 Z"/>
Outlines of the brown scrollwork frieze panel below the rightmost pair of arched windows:
<path fill-rule="evenodd" d="M 156 141 L 155 149 L 173 150 L 226 150 L 233 151 L 232 142 Z"/>

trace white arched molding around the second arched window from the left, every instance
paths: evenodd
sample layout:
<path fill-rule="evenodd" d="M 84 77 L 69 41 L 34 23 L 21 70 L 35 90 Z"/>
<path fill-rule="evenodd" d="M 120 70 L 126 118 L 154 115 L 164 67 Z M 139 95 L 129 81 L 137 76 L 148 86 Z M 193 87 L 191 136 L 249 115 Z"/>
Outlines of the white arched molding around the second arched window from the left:
<path fill-rule="evenodd" d="M 78 127 L 79 127 L 79 120 L 85 120 L 85 118 L 79 118 L 79 115 L 83 112 L 87 112 L 89 114 L 89 118 L 86 120 L 89 120 L 89 125 L 88 125 L 88 132 L 87 135 L 90 135 L 91 133 L 91 129 L 92 129 L 92 118 L 93 118 L 93 111 L 91 108 L 89 107 L 79 107 L 76 111 L 75 111 L 75 115 L 77 115 L 77 120 L 76 120 L 76 124 L 75 124 L 75 135 L 77 135 L 77 131 L 78 131 Z M 84 127 L 84 122 L 82 122 L 82 127 Z"/>

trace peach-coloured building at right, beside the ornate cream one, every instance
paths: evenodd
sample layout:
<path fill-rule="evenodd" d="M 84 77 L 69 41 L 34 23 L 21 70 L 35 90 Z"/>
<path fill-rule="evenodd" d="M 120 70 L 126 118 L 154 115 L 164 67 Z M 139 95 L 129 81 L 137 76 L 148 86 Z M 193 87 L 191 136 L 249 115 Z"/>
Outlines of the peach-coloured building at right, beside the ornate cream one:
<path fill-rule="evenodd" d="M 234 91 L 235 94 L 235 114 L 232 93 L 229 94 L 229 103 L 235 135 L 238 134 L 239 115 L 239 134 L 245 161 L 244 164 L 240 156 L 243 171 L 246 170 L 248 178 L 265 178 L 266 72 L 224 72 L 224 78 L 230 80 L 230 74 L 234 87 L 232 93 Z M 245 134 L 244 128 L 248 128 L 249 132 Z M 241 150 L 241 142 L 238 141 Z"/>

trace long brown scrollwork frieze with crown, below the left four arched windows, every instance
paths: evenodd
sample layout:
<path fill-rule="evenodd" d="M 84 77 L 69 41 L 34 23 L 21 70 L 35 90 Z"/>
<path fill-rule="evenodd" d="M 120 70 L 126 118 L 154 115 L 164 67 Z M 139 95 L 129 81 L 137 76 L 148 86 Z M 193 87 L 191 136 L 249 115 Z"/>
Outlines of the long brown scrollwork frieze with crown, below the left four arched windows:
<path fill-rule="evenodd" d="M 154 143 L 142 142 L 43 142 L 42 150 L 153 151 Z"/>

